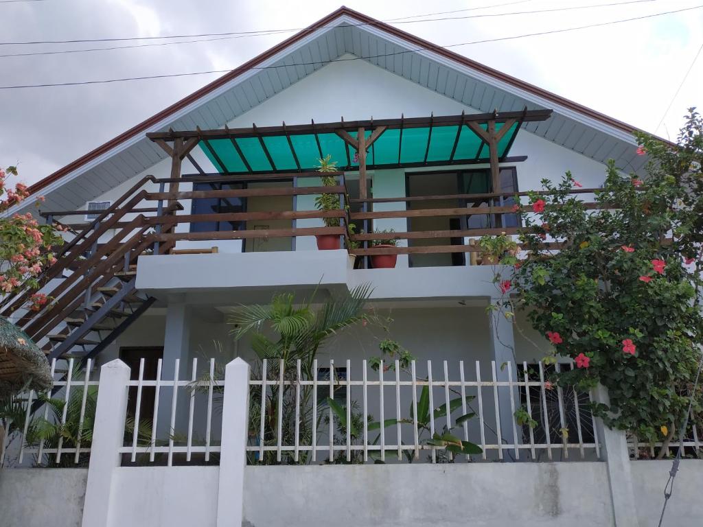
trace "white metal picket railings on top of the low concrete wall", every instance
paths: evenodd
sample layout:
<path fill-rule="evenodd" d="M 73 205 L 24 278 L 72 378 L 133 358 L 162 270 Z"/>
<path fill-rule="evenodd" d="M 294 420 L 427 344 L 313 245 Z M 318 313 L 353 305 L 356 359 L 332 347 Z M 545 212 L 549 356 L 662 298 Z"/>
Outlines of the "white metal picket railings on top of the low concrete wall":
<path fill-rule="evenodd" d="M 86 419 L 91 424 L 96 419 L 91 413 L 94 402 L 90 408 L 86 402 L 100 382 L 93 378 L 97 372 L 91 371 L 91 360 L 82 370 L 75 368 L 73 359 L 63 364 L 65 369 L 60 370 L 56 360 L 51 364 L 56 380 L 53 391 L 44 394 L 62 401 L 63 408 L 50 408 L 38 401 L 34 391 L 17 398 L 24 422 L 6 438 L 16 466 L 26 466 L 28 456 L 33 457 L 34 464 L 46 466 L 61 464 L 62 460 L 63 465 L 68 464 L 67 455 L 72 455 L 74 464 L 86 463 L 91 449 L 82 445 L 82 431 Z M 122 464 L 219 462 L 224 412 L 221 398 L 226 382 L 216 378 L 221 368 L 216 367 L 214 359 L 206 360 L 202 370 L 197 358 L 190 365 L 188 375 L 183 375 L 181 362 L 176 360 L 174 379 L 162 379 L 162 360 L 158 360 L 155 378 L 146 379 L 141 360 L 136 379 L 124 385 L 124 396 L 130 389 L 133 393 L 129 428 L 124 430 L 125 439 L 118 449 Z M 304 375 L 300 360 L 294 365 L 286 370 L 283 360 L 262 360 L 250 376 L 245 446 L 250 464 L 601 458 L 595 419 L 588 409 L 591 394 L 577 393 L 572 386 L 551 386 L 543 363 L 522 363 L 522 368 L 515 370 L 510 364 L 501 368 L 491 362 L 484 370 L 482 366 L 488 364 L 479 361 L 468 367 L 463 360 L 413 361 L 406 368 L 395 361 L 373 369 L 366 360 L 341 364 L 314 360 L 308 375 Z M 573 367 L 557 364 L 555 372 L 565 366 Z M 68 419 L 70 402 L 73 413 Z M 146 418 L 141 415 L 144 408 L 152 410 Z M 418 408 L 426 410 L 427 417 L 418 415 Z M 523 422 L 518 424 L 513 416 L 520 409 Z M 458 417 L 470 413 L 475 415 L 457 424 Z M 38 419 L 58 429 L 69 426 L 70 420 L 77 441 L 64 441 L 58 434 L 53 441 L 27 444 L 28 431 L 37 426 Z M 353 422 L 358 430 L 346 426 Z M 148 436 L 142 430 L 145 425 Z M 455 439 L 475 443 L 480 452 L 451 453 L 428 441 L 449 432 Z M 692 427 L 692 438 L 684 444 L 699 452 L 696 426 Z M 677 445 L 672 443 L 669 448 Z M 628 446 L 633 457 L 640 457 L 647 449 L 654 457 L 661 443 L 631 441 Z"/>

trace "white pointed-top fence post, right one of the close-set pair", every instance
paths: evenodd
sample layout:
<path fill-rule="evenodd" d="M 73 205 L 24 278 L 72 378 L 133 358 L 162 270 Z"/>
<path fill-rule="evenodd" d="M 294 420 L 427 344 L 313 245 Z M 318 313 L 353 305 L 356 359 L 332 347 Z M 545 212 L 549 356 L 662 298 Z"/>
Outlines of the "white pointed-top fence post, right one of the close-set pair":
<path fill-rule="evenodd" d="M 217 527 L 242 523 L 248 419 L 249 365 L 236 358 L 224 373 Z"/>

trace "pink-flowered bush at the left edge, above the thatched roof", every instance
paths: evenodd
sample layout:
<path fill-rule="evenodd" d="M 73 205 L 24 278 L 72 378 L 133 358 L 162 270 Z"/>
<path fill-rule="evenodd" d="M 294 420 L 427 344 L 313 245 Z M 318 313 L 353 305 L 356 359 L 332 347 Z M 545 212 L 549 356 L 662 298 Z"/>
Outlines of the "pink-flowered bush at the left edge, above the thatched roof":
<path fill-rule="evenodd" d="M 56 261 L 51 249 L 63 244 L 56 228 L 39 225 L 32 213 L 6 215 L 10 207 L 29 195 L 22 183 L 9 188 L 10 176 L 18 176 L 16 167 L 0 168 L 0 299 L 25 288 L 37 288 L 41 271 Z M 47 301 L 46 294 L 35 293 L 27 307 L 38 311 Z"/>

